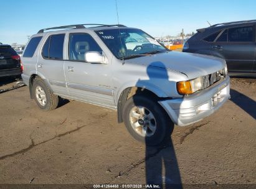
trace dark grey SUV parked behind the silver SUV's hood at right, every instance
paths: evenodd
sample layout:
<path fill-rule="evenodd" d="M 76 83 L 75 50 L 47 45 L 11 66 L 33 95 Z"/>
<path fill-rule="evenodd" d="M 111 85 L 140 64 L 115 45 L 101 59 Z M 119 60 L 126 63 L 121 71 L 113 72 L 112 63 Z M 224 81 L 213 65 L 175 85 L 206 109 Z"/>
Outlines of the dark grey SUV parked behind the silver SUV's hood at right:
<path fill-rule="evenodd" d="M 256 20 L 227 22 L 197 29 L 183 52 L 224 58 L 233 76 L 256 76 L 255 24 Z"/>

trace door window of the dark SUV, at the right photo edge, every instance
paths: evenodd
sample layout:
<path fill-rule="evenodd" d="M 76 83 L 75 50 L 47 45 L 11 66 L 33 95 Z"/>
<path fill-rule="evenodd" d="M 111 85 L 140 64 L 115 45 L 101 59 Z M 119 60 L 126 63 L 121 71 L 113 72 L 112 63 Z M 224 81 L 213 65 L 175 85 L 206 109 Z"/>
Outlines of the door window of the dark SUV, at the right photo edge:
<path fill-rule="evenodd" d="M 229 29 L 229 42 L 253 42 L 254 41 L 254 28 L 237 27 Z"/>

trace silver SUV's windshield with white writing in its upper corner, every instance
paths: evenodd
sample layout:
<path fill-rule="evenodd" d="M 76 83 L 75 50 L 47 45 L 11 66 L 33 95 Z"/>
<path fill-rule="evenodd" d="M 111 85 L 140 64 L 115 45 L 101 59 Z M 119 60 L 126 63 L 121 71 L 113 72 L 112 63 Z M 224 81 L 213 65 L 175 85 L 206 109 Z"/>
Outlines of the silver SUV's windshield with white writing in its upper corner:
<path fill-rule="evenodd" d="M 95 32 L 116 58 L 133 58 L 169 51 L 140 29 L 107 29 Z"/>

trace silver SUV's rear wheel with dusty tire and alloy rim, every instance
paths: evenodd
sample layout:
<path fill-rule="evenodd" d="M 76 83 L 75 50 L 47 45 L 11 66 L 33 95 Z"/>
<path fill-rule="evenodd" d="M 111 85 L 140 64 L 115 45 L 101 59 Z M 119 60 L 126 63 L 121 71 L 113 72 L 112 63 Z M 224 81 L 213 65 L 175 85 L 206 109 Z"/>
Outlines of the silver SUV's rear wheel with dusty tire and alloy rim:
<path fill-rule="evenodd" d="M 45 85 L 41 78 L 35 78 L 32 85 L 32 93 L 40 109 L 49 111 L 57 108 L 59 96 L 52 93 L 50 88 Z"/>

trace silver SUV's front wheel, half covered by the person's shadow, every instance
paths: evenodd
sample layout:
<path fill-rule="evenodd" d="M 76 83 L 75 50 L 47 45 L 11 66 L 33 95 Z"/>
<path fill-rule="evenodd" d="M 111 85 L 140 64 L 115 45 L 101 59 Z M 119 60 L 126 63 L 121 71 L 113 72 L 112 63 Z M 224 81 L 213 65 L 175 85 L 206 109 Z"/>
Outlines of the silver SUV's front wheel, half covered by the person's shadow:
<path fill-rule="evenodd" d="M 138 118 L 143 115 L 143 107 L 145 116 L 141 120 Z M 153 99 L 135 94 L 125 103 L 123 120 L 131 136 L 137 141 L 148 146 L 166 145 L 171 142 L 174 124 L 166 111 Z"/>

